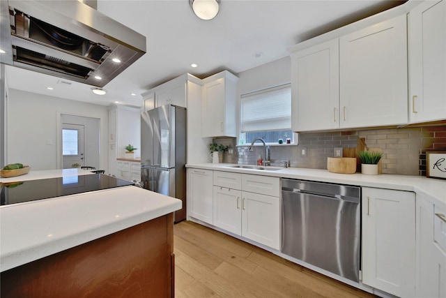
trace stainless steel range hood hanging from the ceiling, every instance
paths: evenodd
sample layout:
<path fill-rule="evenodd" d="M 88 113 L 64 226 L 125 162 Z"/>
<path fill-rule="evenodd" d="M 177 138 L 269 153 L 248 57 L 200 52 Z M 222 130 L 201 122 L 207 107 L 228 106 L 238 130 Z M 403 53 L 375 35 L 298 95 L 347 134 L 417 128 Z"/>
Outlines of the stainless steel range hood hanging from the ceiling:
<path fill-rule="evenodd" d="M 96 87 L 146 53 L 145 36 L 77 0 L 0 0 L 0 38 L 1 63 Z"/>

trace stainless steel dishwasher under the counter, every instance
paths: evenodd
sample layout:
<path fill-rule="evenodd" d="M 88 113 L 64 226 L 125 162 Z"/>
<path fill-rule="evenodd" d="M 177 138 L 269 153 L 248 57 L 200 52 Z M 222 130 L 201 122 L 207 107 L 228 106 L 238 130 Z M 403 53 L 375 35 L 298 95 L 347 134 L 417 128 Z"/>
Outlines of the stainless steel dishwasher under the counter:
<path fill-rule="evenodd" d="M 359 186 L 282 179 L 282 253 L 359 281 Z"/>

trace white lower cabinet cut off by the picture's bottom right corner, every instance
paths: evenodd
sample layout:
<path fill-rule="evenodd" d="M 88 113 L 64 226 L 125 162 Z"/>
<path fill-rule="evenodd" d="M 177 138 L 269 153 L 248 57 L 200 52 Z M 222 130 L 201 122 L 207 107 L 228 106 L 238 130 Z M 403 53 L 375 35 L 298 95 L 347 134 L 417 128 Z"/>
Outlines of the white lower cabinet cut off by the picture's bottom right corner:
<path fill-rule="evenodd" d="M 416 297 L 446 297 L 446 209 L 417 195 Z"/>

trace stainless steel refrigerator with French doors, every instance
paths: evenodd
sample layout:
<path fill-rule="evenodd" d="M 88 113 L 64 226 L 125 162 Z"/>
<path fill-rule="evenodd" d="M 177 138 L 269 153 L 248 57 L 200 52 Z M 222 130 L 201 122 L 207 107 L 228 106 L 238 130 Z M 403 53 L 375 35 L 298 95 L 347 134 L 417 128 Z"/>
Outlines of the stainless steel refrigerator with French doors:
<path fill-rule="evenodd" d="M 174 221 L 186 218 L 186 109 L 163 105 L 141 112 L 141 181 L 144 188 L 183 201 Z"/>

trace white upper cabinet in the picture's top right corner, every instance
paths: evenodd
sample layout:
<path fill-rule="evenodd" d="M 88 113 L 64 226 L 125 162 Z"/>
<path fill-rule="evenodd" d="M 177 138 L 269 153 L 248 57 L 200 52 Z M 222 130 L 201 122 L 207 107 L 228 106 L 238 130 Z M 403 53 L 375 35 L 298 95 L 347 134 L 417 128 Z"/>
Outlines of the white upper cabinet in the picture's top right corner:
<path fill-rule="evenodd" d="M 446 119 L 446 1 L 425 1 L 410 10 L 409 119 Z"/>

